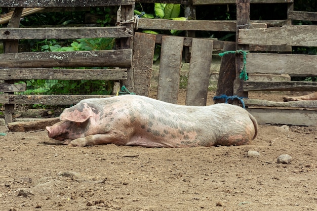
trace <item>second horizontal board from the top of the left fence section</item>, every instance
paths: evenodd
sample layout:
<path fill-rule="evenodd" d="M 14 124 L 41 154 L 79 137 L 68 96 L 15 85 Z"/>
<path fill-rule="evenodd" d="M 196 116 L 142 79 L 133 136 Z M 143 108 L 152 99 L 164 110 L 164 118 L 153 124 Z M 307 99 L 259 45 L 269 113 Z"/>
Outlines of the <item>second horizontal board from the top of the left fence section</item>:
<path fill-rule="evenodd" d="M 0 28 L 0 39 L 76 39 L 95 37 L 131 37 L 125 26 L 117 27 L 57 27 Z"/>

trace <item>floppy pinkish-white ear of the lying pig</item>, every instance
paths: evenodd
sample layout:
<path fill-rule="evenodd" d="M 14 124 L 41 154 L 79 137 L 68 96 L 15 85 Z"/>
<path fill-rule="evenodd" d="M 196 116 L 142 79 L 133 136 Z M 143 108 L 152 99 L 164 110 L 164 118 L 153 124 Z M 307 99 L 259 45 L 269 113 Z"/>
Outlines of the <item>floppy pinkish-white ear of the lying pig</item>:
<path fill-rule="evenodd" d="M 93 111 L 90 107 L 85 106 L 84 108 L 81 107 L 81 109 L 78 110 L 77 105 L 70 108 L 66 108 L 60 115 L 60 120 L 84 122 L 87 121 L 87 119 L 89 119 L 91 116 L 93 116 Z"/>

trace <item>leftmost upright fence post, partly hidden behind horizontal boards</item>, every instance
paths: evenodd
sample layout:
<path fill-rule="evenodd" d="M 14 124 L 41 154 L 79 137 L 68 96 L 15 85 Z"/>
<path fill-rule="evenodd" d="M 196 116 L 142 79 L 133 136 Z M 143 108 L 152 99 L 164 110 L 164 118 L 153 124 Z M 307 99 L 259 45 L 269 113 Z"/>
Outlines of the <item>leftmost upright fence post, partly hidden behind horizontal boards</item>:
<path fill-rule="evenodd" d="M 8 24 L 8 27 L 18 28 L 20 26 L 20 19 L 22 15 L 23 8 L 15 8 Z M 19 40 L 5 40 L 4 41 L 5 53 L 18 53 L 19 50 Z M 13 80 L 7 80 L 5 82 L 14 83 Z M 13 93 L 9 93 L 13 94 Z M 14 105 L 13 104 L 5 104 L 5 122 L 8 123 L 13 122 L 12 114 L 14 114 Z"/>

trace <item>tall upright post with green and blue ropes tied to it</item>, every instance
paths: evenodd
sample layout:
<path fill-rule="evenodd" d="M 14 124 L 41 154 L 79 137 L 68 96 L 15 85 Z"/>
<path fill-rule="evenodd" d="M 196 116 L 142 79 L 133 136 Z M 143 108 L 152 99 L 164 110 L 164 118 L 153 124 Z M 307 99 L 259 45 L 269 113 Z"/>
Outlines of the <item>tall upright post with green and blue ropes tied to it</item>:
<path fill-rule="evenodd" d="M 247 45 L 238 44 L 239 29 L 248 29 L 250 27 L 250 0 L 236 0 L 236 32 L 235 45 L 236 50 L 247 50 Z M 243 91 L 243 79 L 240 79 L 242 69 L 242 55 L 236 54 L 235 57 L 235 80 L 233 86 L 233 95 L 238 97 L 248 97 L 248 93 Z M 234 105 L 238 105 L 239 101 L 234 100 Z"/>

